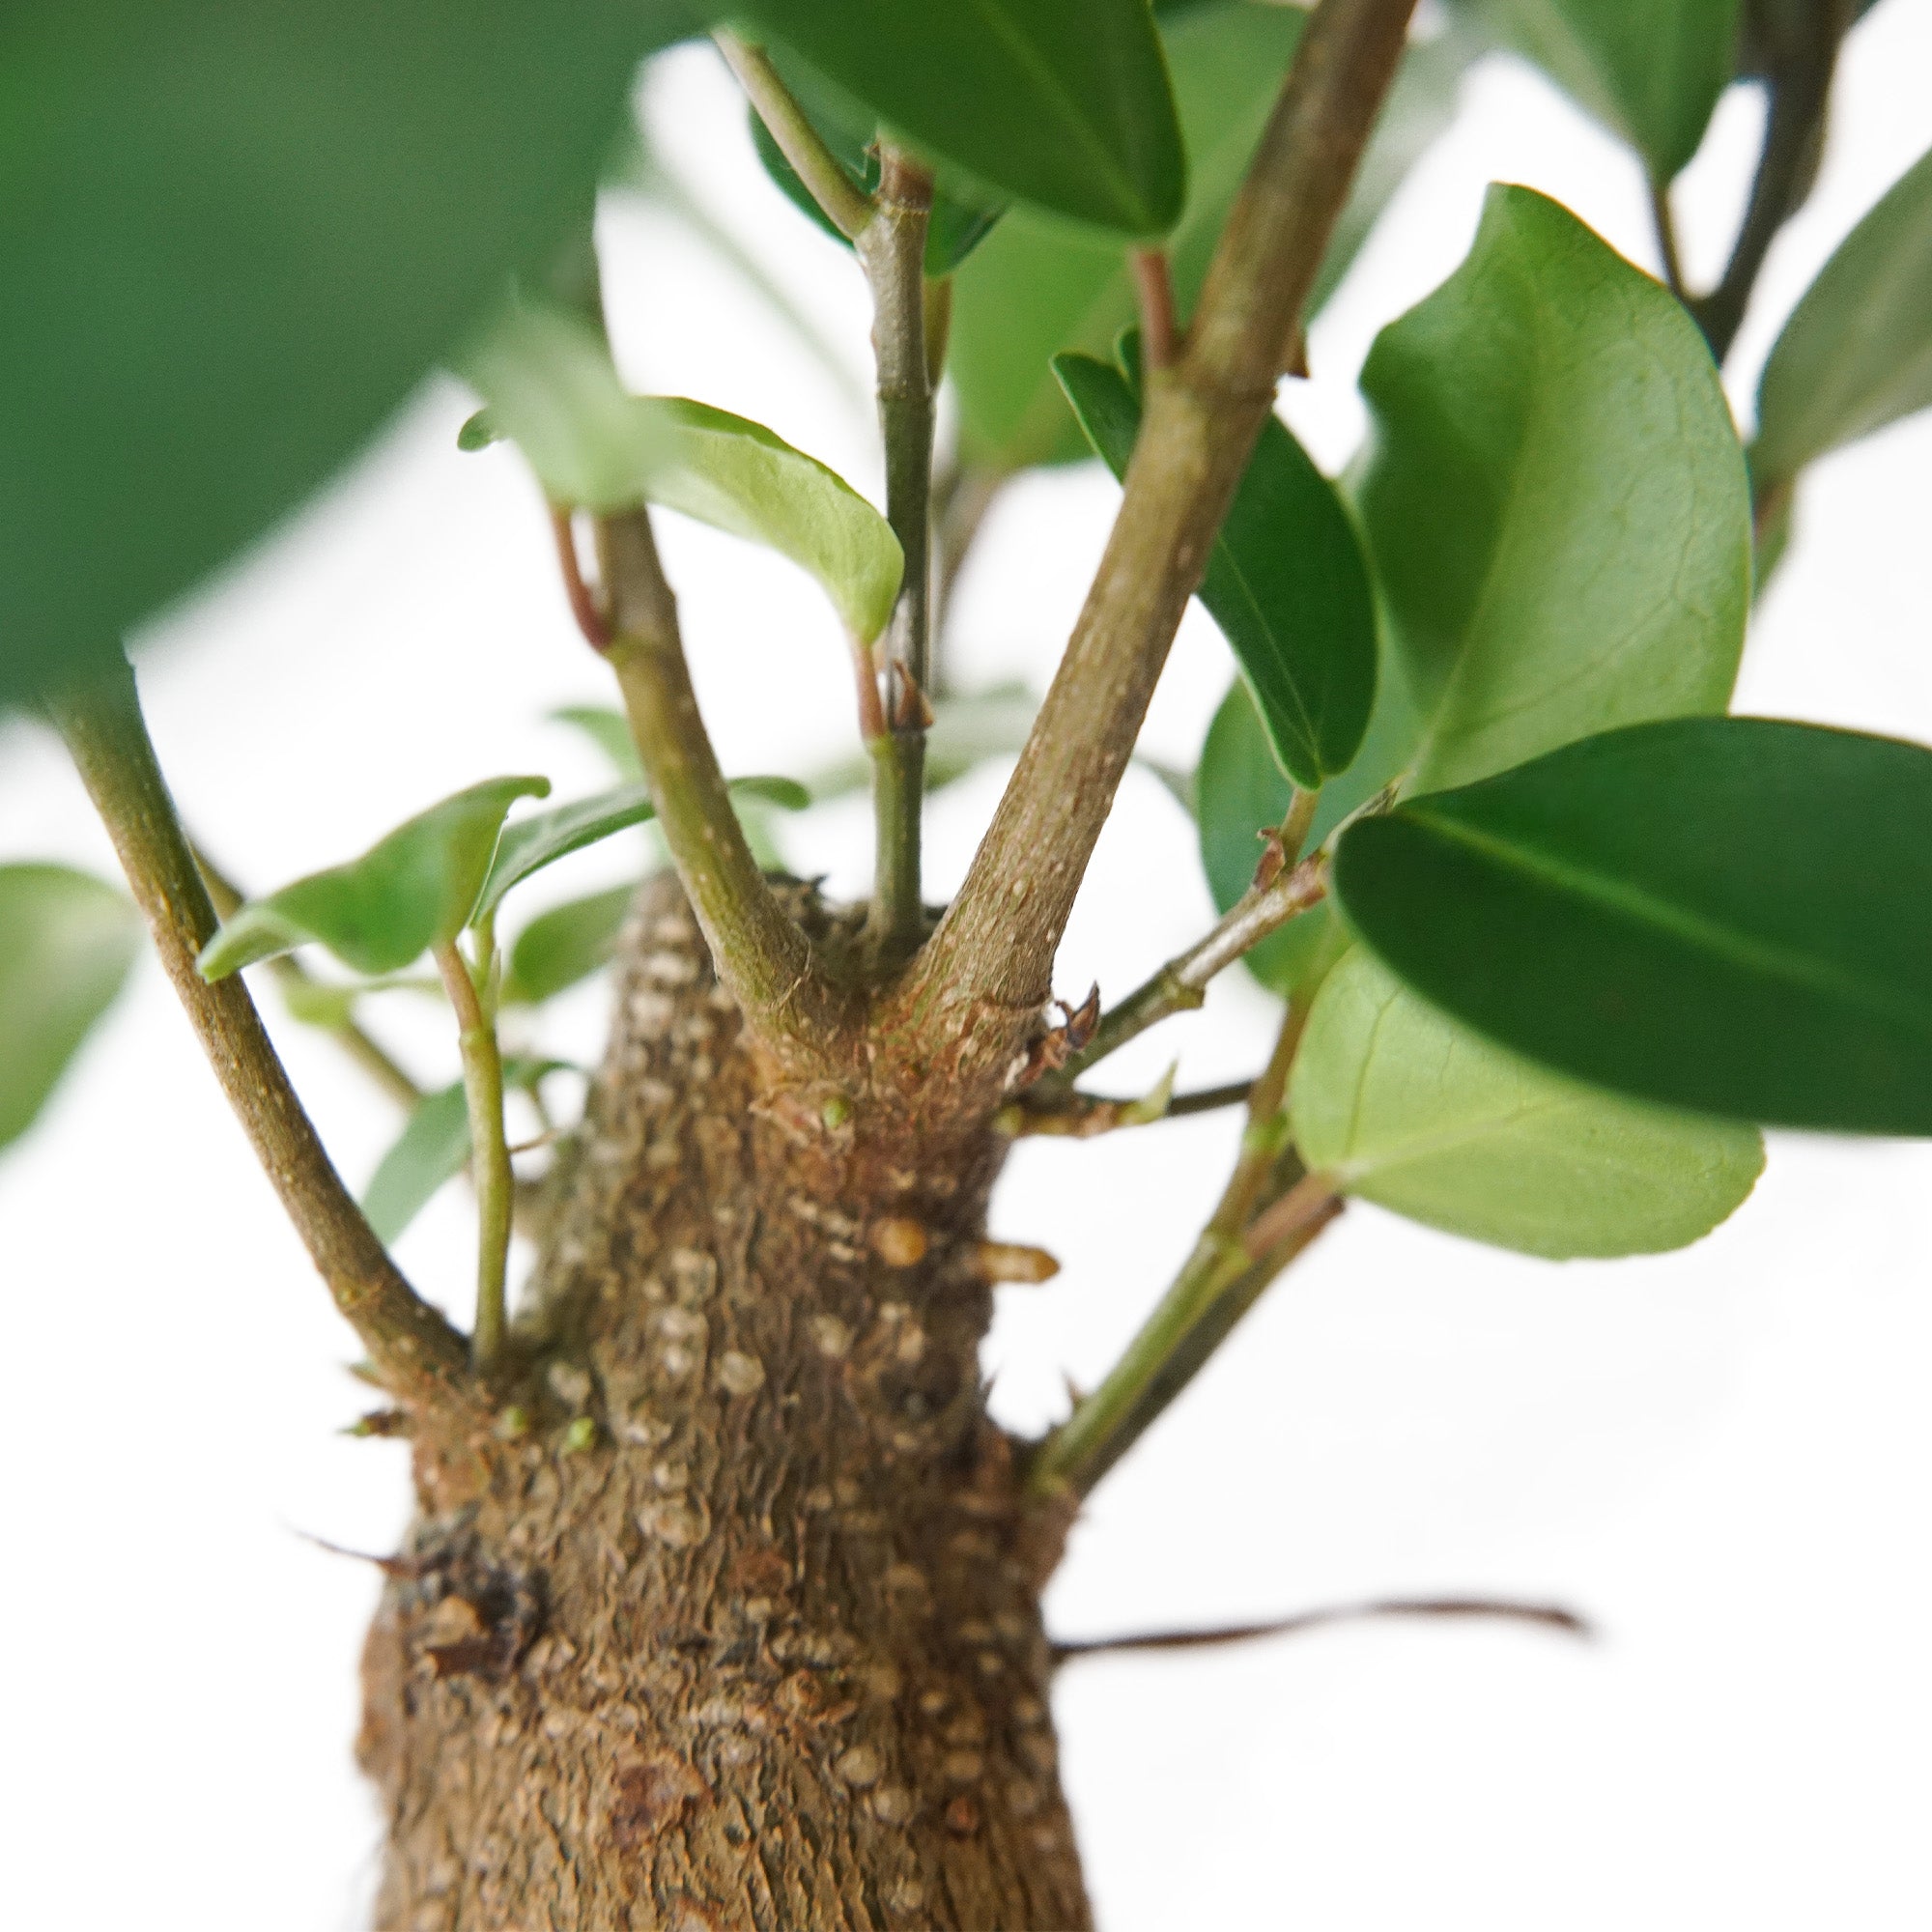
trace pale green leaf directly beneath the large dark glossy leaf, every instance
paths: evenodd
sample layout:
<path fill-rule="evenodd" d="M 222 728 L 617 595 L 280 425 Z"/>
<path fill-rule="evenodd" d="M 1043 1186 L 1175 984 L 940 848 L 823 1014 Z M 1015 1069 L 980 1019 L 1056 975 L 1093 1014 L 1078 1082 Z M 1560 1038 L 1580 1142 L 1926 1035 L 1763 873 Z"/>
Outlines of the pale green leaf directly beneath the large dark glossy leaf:
<path fill-rule="evenodd" d="M 1289 1109 L 1302 1159 L 1343 1192 L 1553 1262 L 1683 1248 L 1764 1169 L 1756 1128 L 1546 1072 L 1360 947 L 1308 1014 Z"/>

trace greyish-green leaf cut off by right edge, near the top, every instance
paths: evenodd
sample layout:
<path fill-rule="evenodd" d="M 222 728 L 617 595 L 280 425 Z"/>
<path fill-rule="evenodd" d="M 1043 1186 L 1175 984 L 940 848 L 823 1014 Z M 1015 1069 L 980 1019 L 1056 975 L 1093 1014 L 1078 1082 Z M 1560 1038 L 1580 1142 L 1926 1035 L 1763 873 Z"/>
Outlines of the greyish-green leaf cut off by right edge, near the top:
<path fill-rule="evenodd" d="M 1758 383 L 1760 487 L 1932 404 L 1932 153 L 1837 245 Z"/>

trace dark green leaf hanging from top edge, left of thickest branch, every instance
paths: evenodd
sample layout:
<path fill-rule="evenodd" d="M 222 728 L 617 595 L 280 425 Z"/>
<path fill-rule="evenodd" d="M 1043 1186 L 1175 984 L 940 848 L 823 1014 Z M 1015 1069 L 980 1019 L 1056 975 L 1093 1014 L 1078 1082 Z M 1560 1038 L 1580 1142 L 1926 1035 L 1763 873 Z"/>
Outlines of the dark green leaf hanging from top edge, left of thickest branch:
<path fill-rule="evenodd" d="M 1180 213 L 1186 164 L 1146 0 L 748 0 L 744 14 L 995 195 L 1130 236 Z"/>

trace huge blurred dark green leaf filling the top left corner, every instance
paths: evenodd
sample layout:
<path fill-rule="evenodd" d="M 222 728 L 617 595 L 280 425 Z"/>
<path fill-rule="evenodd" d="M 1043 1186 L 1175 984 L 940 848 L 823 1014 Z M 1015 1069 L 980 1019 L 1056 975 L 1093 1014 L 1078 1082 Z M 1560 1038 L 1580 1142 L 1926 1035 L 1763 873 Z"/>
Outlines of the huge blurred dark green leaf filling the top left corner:
<path fill-rule="evenodd" d="M 0 703 L 292 510 L 589 203 L 667 0 L 12 0 Z"/>

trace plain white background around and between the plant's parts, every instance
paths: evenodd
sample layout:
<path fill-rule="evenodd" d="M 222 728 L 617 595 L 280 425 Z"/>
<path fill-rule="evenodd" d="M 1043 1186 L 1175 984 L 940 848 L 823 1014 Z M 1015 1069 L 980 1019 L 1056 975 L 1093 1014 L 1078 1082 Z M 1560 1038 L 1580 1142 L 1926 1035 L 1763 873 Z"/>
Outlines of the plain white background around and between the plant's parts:
<path fill-rule="evenodd" d="M 1932 10 L 1884 0 L 1853 35 L 1832 155 L 1779 242 L 1733 367 L 1748 423 L 1776 325 L 1932 128 Z M 844 388 L 746 284 L 639 203 L 605 243 L 639 386 L 769 421 L 877 487 L 854 270 L 763 184 L 715 62 L 674 56 L 651 110 L 694 191 L 837 346 Z M 1721 259 L 1756 104 L 1729 97 L 1679 189 L 1692 278 Z M 1339 466 L 1352 383 L 1387 319 L 1463 255 L 1484 182 L 1530 182 L 1652 261 L 1633 162 L 1509 62 L 1470 79 L 1314 328 L 1283 408 Z M 299 381 L 299 371 L 290 373 Z M 605 701 L 506 452 L 460 456 L 433 388 L 325 502 L 147 639 L 155 732 L 201 837 L 272 885 L 359 850 L 498 771 L 603 782 L 549 707 Z M 1818 466 L 1741 705 L 1932 740 L 1932 419 Z M 1036 688 L 1115 489 L 1094 466 L 997 510 L 964 587 L 970 678 Z M 840 645 L 815 589 L 672 527 L 707 715 L 736 771 L 850 746 Z M 1192 614 L 1148 726 L 1190 761 L 1229 674 Z M 939 891 L 1003 771 L 933 811 Z M 790 829 L 794 864 L 866 879 L 864 811 Z M 0 730 L 0 852 L 108 866 L 58 750 Z M 638 850 L 560 869 L 611 883 Z M 1134 775 L 1066 939 L 1061 983 L 1111 993 L 1209 918 L 1192 835 Z M 566 1032 L 591 1051 L 601 995 Z M 425 1074 L 446 1049 L 392 1016 Z M 384 1024 L 384 1020 L 379 1020 Z M 354 1182 L 392 1119 L 319 1036 L 278 1022 Z M 1124 1092 L 1248 1070 L 1265 1003 L 1238 976 L 1121 1057 Z M 1037 1426 L 1092 1381 L 1182 1256 L 1233 1122 L 1024 1146 L 997 1233 L 1065 1260 L 1010 1291 L 997 1405 Z M 462 1314 L 464 1202 L 402 1258 Z M 1260 1617 L 1443 1590 L 1557 1598 L 1584 1648 L 1519 1629 L 1372 1625 L 1188 1660 L 1076 1665 L 1066 1774 L 1107 1932 L 1932 1922 L 1932 1153 L 1781 1136 L 1716 1236 L 1654 1262 L 1553 1267 L 1370 1208 L 1349 1213 L 1101 1490 L 1051 1594 L 1061 1634 Z M 363 1391 L 330 1314 L 153 964 L 0 1159 L 8 1343 L 0 1590 L 0 1918 L 15 1926 L 336 1932 L 375 1845 L 350 1764 L 365 1565 L 388 1549 L 404 1453 L 336 1432 Z"/>

